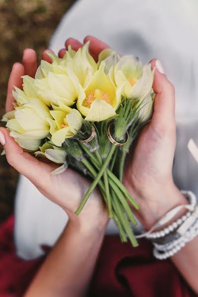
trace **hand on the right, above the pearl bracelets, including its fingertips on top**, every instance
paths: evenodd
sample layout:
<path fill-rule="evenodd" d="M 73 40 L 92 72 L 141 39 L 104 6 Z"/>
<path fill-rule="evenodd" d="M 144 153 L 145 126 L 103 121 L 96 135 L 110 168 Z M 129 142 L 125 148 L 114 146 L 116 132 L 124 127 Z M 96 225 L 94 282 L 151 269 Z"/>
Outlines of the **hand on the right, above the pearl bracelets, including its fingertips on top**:
<path fill-rule="evenodd" d="M 90 53 L 97 60 L 101 50 L 109 48 L 97 38 L 87 36 Z M 68 39 L 77 50 L 82 44 Z M 62 49 L 60 52 L 64 52 Z M 152 69 L 156 59 L 150 61 Z M 123 183 L 140 205 L 136 213 L 146 228 L 150 228 L 171 208 L 186 204 L 186 199 L 173 182 L 172 166 L 176 145 L 175 90 L 165 74 L 155 69 L 153 90 L 154 112 L 150 123 L 141 132 L 133 153 L 127 155 Z"/>

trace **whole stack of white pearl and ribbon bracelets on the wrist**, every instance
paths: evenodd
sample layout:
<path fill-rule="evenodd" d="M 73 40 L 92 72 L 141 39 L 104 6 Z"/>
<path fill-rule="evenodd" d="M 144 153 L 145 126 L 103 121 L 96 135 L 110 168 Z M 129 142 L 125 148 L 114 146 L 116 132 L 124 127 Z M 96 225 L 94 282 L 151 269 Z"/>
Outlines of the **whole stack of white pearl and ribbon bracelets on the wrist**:
<path fill-rule="evenodd" d="M 198 235 L 198 205 L 196 196 L 190 191 L 181 191 L 189 204 L 180 205 L 165 214 L 148 232 L 136 236 L 136 238 L 148 238 L 154 245 L 153 254 L 157 259 L 163 260 L 173 256 L 188 242 Z M 188 212 L 168 227 L 155 231 L 168 223 L 182 209 Z"/>

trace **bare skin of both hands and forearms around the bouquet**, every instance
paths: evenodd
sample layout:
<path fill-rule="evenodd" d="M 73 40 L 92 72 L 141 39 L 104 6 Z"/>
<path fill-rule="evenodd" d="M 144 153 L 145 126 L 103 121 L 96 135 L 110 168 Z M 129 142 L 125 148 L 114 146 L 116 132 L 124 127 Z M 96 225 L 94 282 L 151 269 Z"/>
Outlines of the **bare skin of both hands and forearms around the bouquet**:
<path fill-rule="evenodd" d="M 90 53 L 97 61 L 99 52 L 108 46 L 92 36 L 86 37 L 84 43 L 87 41 L 90 41 Z M 82 46 L 79 41 L 72 38 L 65 42 L 65 49 L 68 45 L 71 45 L 74 50 Z M 59 51 L 59 57 L 64 55 L 65 49 Z M 50 62 L 46 52 L 43 53 L 43 59 L 48 59 Z M 150 62 L 154 68 L 155 59 Z M 12 109 L 14 101 L 11 95 L 12 86 L 21 88 L 20 76 L 24 74 L 34 76 L 35 71 L 36 54 L 32 49 L 26 49 L 23 65 L 14 64 L 10 74 L 6 111 Z M 174 87 L 166 75 L 161 74 L 157 69 L 154 74 L 153 90 L 156 96 L 152 119 L 134 144 L 133 153 L 127 155 L 126 164 L 128 165 L 125 166 L 123 179 L 123 183 L 140 205 L 141 210 L 136 214 L 146 229 L 149 229 L 173 207 L 186 203 L 186 199 L 176 188 L 172 178 L 176 144 Z M 0 131 L 5 136 L 4 149 L 10 165 L 30 179 L 47 198 L 59 204 L 69 215 L 68 226 L 37 274 L 26 296 L 37 296 L 38 292 L 42 292 L 42 296 L 83 296 L 94 269 L 107 223 L 106 210 L 99 193 L 95 191 L 92 194 L 77 217 L 73 211 L 88 189 L 89 182 L 70 169 L 50 177 L 49 173 L 56 168 L 55 164 L 43 163 L 29 153 L 23 152 L 23 149 L 9 137 L 6 129 L 0 128 Z M 38 176 L 42 176 L 42 180 L 38 179 Z M 79 243 L 83 248 L 78 248 Z M 95 253 L 90 256 L 93 248 Z M 197 248 L 198 239 L 196 238 L 173 256 L 172 261 L 189 285 L 198 293 Z M 75 263 L 70 261 L 73 257 L 77 259 Z M 78 278 L 77 275 L 82 275 L 80 274 L 82 265 L 84 265 L 84 278 Z M 54 273 L 60 277 L 54 279 Z M 76 286 L 78 290 L 74 289 Z"/>

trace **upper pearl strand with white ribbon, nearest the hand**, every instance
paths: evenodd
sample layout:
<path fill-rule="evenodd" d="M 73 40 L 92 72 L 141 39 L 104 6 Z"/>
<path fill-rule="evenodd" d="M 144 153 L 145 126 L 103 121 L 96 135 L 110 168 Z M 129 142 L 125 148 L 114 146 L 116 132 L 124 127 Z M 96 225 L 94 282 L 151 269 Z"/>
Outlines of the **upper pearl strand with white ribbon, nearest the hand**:
<path fill-rule="evenodd" d="M 189 204 L 180 205 L 180 206 L 173 208 L 168 213 L 166 213 L 148 232 L 143 233 L 141 235 L 137 235 L 136 238 L 145 237 L 150 240 L 157 239 L 157 238 L 163 238 L 164 236 L 170 234 L 171 232 L 175 231 L 179 226 L 181 226 L 182 223 L 185 222 L 187 220 L 187 218 L 189 218 L 191 216 L 192 212 L 195 209 L 196 202 L 197 202 L 195 194 L 192 193 L 191 191 L 181 191 L 181 193 L 187 198 Z M 162 226 L 165 223 L 167 223 L 168 221 L 170 221 L 184 207 L 186 209 L 189 209 L 189 211 L 185 215 L 183 215 L 181 218 L 177 219 L 175 222 L 173 222 L 168 227 L 166 227 L 160 231 L 153 232 L 160 226 Z"/>

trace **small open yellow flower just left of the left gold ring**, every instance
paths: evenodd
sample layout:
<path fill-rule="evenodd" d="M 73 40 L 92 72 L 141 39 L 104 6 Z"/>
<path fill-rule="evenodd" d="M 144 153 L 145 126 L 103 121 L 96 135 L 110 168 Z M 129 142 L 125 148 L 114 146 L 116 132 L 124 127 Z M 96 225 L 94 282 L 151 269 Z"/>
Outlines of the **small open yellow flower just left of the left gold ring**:
<path fill-rule="evenodd" d="M 51 141 L 55 146 L 61 147 L 66 138 L 77 134 L 83 119 L 76 109 L 66 106 L 64 111 L 57 106 L 53 106 L 53 108 L 54 110 L 50 110 L 53 120 L 49 119 Z"/>

